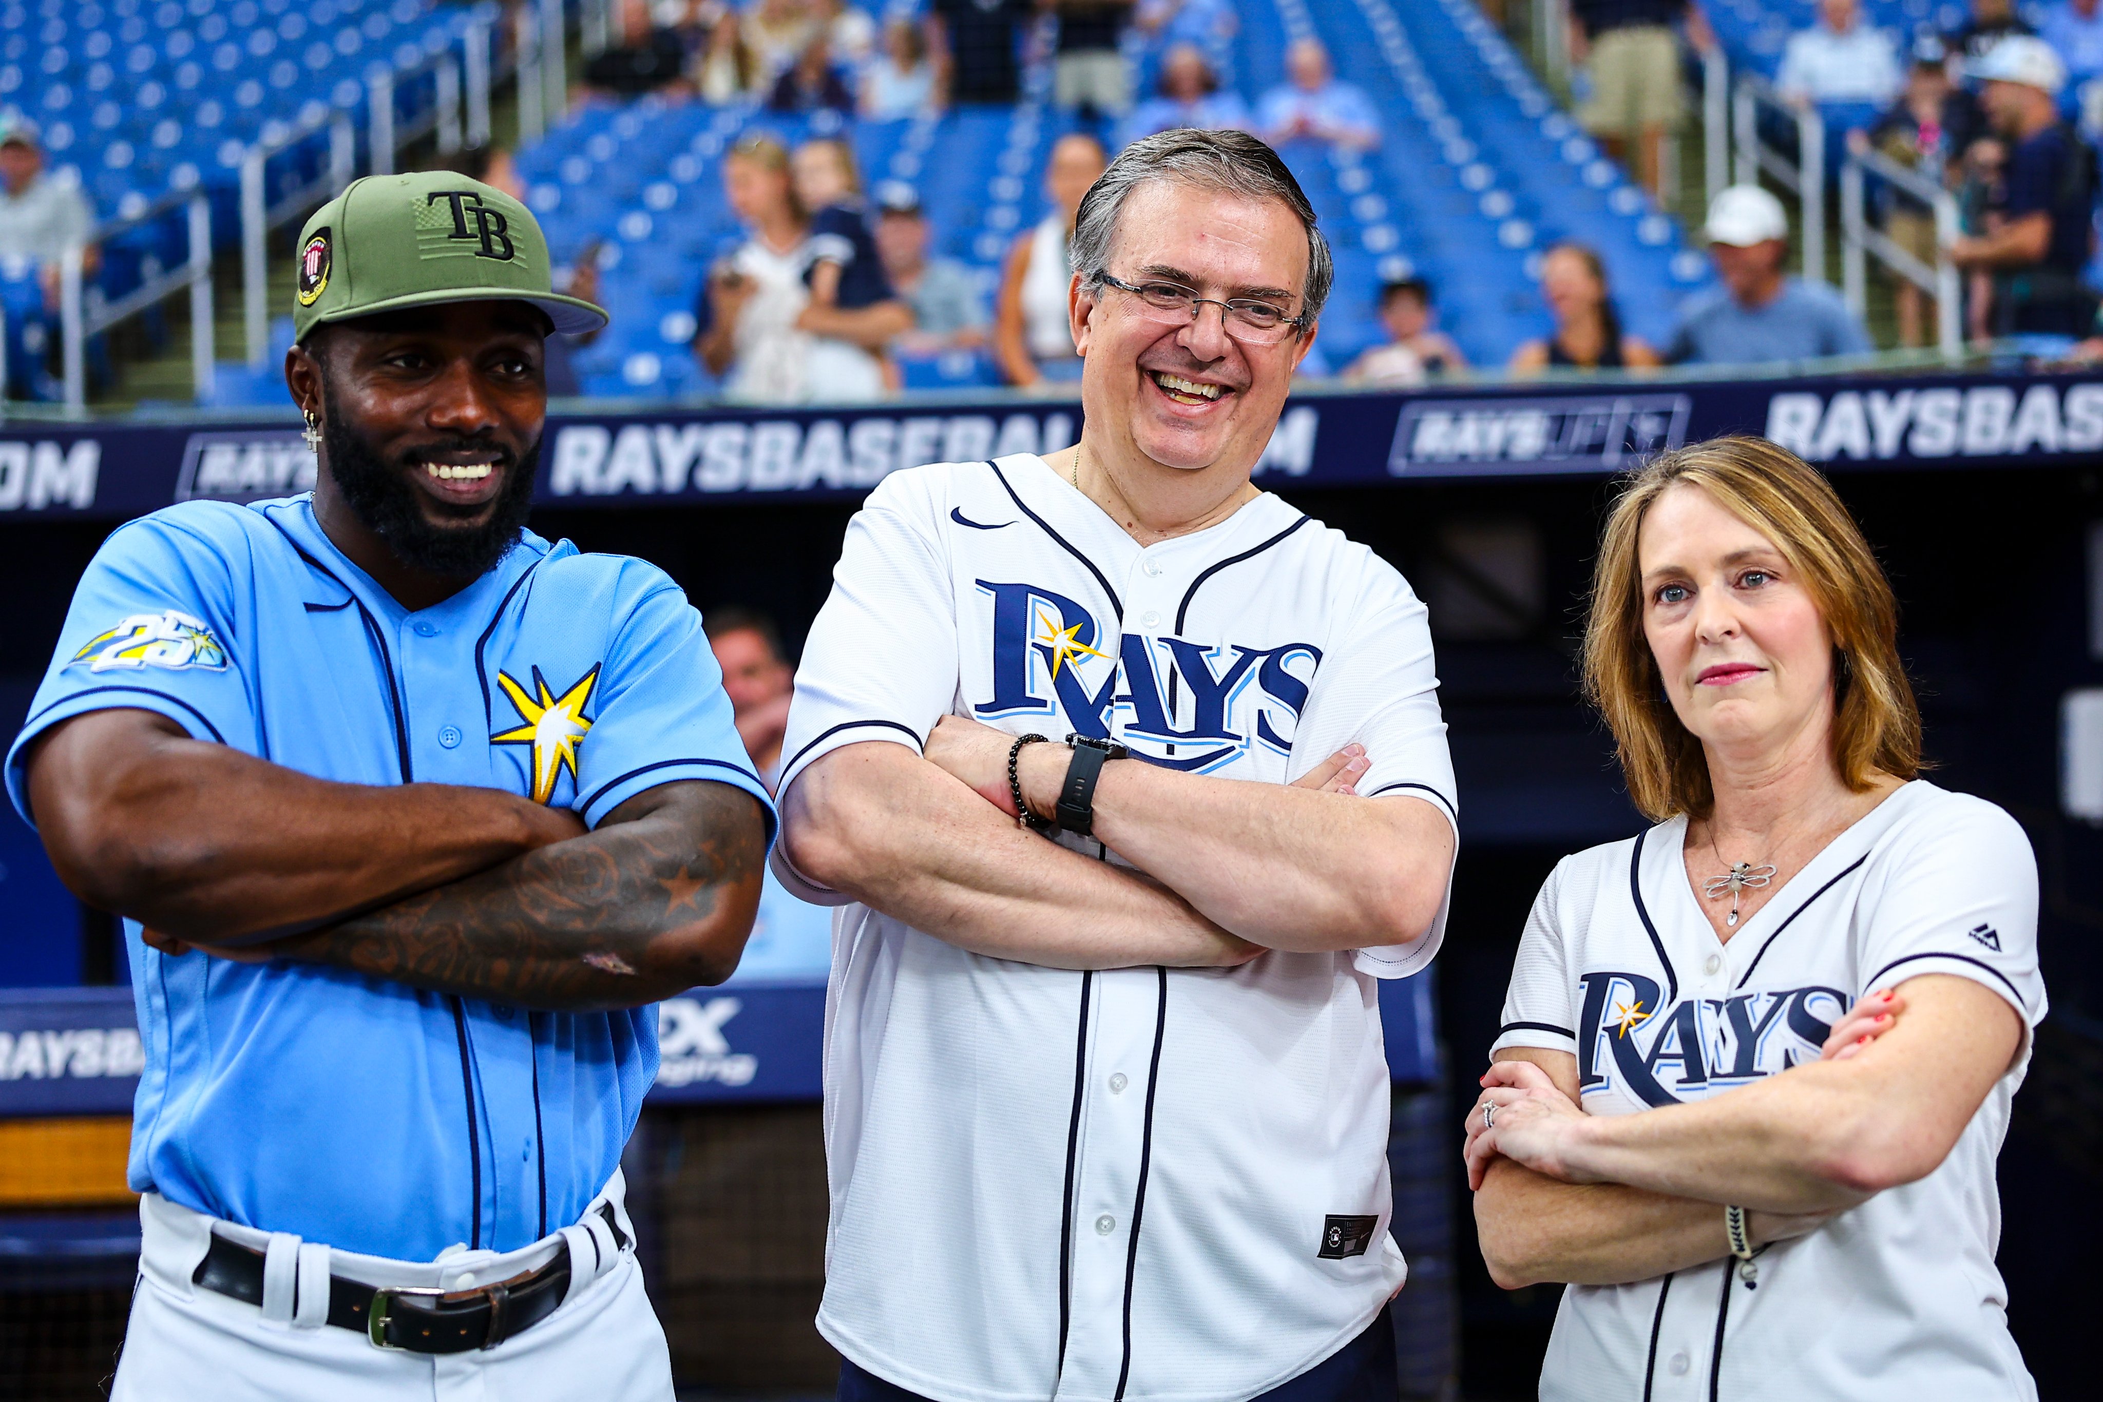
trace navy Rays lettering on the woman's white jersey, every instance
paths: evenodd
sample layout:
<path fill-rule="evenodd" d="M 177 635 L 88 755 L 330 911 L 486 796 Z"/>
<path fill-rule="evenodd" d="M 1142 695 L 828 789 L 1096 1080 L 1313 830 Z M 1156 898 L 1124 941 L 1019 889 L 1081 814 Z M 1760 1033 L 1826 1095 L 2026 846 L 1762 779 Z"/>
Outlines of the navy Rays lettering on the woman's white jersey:
<path fill-rule="evenodd" d="M 1676 1106 L 1815 1061 L 1849 1007 L 1838 988 L 1762 988 L 1680 998 L 1642 973 L 1594 969 L 1579 980 L 1577 1091 L 1617 1085 L 1647 1106 Z"/>

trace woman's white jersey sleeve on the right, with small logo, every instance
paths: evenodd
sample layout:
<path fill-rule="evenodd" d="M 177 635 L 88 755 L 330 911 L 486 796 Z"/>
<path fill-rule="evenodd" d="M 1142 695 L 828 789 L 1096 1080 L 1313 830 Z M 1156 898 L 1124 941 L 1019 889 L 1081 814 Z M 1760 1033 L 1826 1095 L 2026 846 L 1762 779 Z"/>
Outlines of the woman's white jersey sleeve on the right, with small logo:
<path fill-rule="evenodd" d="M 1992 988 L 2023 1015 L 2044 1017 L 2038 973 L 2038 860 L 2000 807 L 1947 795 L 1933 820 L 1907 824 L 1903 847 L 1863 891 L 1870 912 L 1855 967 L 1863 998 L 1922 973 L 1954 973 Z"/>

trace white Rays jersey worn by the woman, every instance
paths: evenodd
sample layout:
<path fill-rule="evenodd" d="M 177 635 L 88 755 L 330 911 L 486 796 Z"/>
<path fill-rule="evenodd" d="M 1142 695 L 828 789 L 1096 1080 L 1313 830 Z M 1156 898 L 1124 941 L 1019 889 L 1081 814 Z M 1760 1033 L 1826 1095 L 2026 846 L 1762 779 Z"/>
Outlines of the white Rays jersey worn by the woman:
<path fill-rule="evenodd" d="M 1954 973 L 2021 1013 L 2023 1049 L 1928 1177 L 1767 1246 L 1569 1286 L 1544 1402 L 2002 1402 L 2038 1389 L 2008 1337 L 1994 1158 L 2044 1017 L 2038 866 L 1981 799 L 1912 782 L 1842 832 L 1727 944 L 1687 881 L 1674 818 L 1565 858 L 1518 946 L 1497 1049 L 1577 1057 L 1584 1108 L 1636 1114 L 1815 1061 L 1865 994 Z M 1716 1209 L 1718 1215 L 1722 1209 Z"/>

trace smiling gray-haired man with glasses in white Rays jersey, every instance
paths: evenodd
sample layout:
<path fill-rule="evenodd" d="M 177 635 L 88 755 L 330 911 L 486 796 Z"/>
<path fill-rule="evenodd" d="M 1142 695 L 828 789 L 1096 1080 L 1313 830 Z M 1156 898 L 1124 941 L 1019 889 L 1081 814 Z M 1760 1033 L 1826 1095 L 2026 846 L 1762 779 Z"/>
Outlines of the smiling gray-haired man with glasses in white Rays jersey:
<path fill-rule="evenodd" d="M 1453 771 L 1409 584 L 1249 481 L 1331 265 L 1243 132 L 1089 189 L 1081 444 L 887 477 L 789 715 L 839 1396 L 1394 1396 L 1377 977 Z M 1239 782 L 1237 782 L 1239 780 Z"/>

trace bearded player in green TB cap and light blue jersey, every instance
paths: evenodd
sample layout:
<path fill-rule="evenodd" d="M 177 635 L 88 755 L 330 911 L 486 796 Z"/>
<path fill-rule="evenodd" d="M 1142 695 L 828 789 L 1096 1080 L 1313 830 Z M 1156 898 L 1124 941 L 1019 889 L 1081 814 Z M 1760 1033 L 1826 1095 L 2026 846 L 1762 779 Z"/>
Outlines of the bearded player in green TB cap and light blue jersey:
<path fill-rule="evenodd" d="M 618 1162 L 768 790 L 679 589 L 522 528 L 604 324 L 526 208 L 358 181 L 297 286 L 315 490 L 114 532 L 6 765 L 130 942 L 116 1398 L 669 1400 Z"/>

